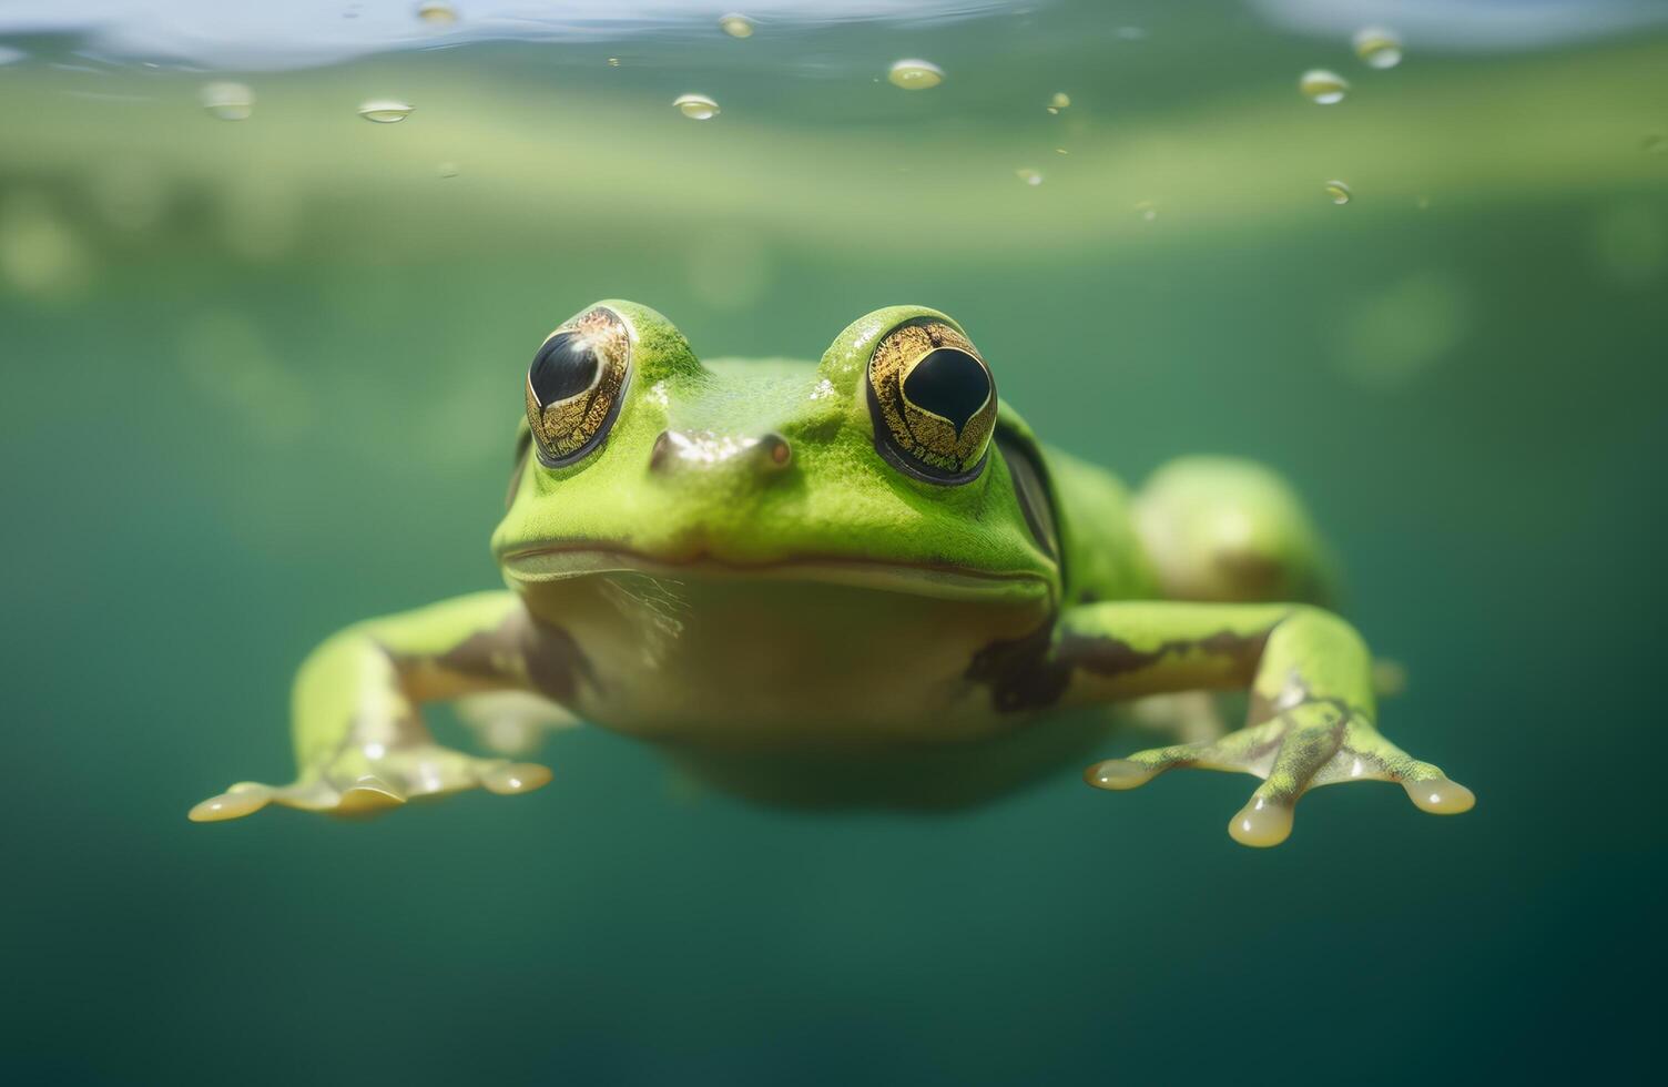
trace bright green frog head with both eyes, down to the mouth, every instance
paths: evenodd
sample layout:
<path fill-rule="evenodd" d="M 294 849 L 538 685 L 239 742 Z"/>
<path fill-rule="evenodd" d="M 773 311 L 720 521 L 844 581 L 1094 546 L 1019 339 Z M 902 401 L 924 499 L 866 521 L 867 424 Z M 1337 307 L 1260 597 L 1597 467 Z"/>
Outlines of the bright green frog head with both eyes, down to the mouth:
<path fill-rule="evenodd" d="M 600 302 L 544 340 L 525 402 L 492 537 L 512 584 L 632 570 L 1059 595 L 1031 433 L 934 310 L 876 310 L 811 367 L 702 363 L 654 310 Z"/>

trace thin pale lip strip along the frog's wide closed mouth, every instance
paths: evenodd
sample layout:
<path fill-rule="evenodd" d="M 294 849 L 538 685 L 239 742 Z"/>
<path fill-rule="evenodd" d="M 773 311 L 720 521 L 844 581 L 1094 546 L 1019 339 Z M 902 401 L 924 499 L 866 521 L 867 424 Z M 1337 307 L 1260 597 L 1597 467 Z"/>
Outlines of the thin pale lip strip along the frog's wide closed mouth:
<path fill-rule="evenodd" d="M 854 555 L 736 560 L 707 552 L 666 557 L 617 547 L 549 544 L 505 552 L 499 565 L 510 584 L 639 574 L 667 580 L 814 582 L 951 600 L 1041 600 L 1053 592 L 1049 579 L 1032 570 L 992 572 Z"/>

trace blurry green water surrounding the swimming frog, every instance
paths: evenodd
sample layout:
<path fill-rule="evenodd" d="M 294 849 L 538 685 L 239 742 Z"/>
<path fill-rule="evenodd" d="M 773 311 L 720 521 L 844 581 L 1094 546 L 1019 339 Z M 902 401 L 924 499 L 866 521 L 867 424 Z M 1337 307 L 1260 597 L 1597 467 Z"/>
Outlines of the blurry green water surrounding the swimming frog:
<path fill-rule="evenodd" d="M 1409 35 L 1388 72 L 1241 5 L 1088 2 L 214 77 L 12 45 L 0 1077 L 1640 1074 L 1663 32 Z M 891 87 L 911 55 L 944 83 Z M 1311 67 L 1351 95 L 1306 102 Z M 254 115 L 203 113 L 207 78 Z M 692 90 L 721 115 L 679 115 Z M 415 110 L 370 125 L 374 97 Z M 289 774 L 314 642 L 497 584 L 524 367 L 600 297 L 709 355 L 816 355 L 921 302 L 1044 435 L 1131 478 L 1276 465 L 1409 670 L 1386 732 L 1476 810 L 1324 790 L 1253 852 L 1224 834 L 1249 779 L 1109 795 L 1068 767 L 956 815 L 791 815 L 580 730 L 530 799 L 187 824 Z"/>

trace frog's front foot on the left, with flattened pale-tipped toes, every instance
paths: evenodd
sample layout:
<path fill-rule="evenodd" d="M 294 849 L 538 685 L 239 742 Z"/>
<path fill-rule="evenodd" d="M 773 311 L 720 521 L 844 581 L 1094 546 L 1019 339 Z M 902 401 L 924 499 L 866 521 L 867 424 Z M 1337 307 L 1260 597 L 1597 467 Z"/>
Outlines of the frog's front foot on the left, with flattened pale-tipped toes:
<path fill-rule="evenodd" d="M 550 770 L 530 762 L 479 759 L 440 747 L 424 734 L 405 742 L 364 742 L 337 752 L 329 764 L 312 767 L 289 785 L 239 782 L 190 810 L 193 822 L 239 819 L 267 807 L 334 815 L 372 815 L 407 800 L 464 789 L 500 795 L 532 792 L 550 780 Z"/>

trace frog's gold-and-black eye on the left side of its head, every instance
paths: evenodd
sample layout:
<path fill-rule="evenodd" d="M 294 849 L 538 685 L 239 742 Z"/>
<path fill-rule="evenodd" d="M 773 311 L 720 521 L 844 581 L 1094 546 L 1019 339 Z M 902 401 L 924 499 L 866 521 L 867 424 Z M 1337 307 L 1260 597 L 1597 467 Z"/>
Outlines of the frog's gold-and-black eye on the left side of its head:
<path fill-rule="evenodd" d="M 631 332 L 597 307 L 550 333 L 527 367 L 527 425 L 547 468 L 602 445 L 631 375 Z"/>

